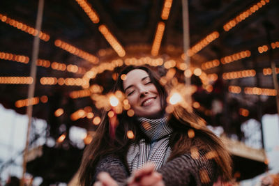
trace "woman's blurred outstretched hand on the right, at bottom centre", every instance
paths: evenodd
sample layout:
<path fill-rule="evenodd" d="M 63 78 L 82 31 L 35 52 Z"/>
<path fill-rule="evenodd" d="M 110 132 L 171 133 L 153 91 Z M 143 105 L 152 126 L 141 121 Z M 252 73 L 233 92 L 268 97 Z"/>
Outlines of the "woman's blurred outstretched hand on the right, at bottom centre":
<path fill-rule="evenodd" d="M 162 175 L 154 171 L 154 164 L 147 163 L 128 179 L 128 186 L 164 186 Z"/>

